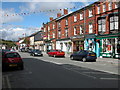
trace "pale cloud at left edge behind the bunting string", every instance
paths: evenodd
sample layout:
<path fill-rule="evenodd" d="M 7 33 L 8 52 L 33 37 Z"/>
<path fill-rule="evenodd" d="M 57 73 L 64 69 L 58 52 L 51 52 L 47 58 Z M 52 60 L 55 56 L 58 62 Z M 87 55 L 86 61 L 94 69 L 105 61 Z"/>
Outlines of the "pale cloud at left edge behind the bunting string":
<path fill-rule="evenodd" d="M 0 9 L 0 24 L 20 21 L 23 21 L 23 17 L 20 15 L 15 15 L 14 9 Z"/>

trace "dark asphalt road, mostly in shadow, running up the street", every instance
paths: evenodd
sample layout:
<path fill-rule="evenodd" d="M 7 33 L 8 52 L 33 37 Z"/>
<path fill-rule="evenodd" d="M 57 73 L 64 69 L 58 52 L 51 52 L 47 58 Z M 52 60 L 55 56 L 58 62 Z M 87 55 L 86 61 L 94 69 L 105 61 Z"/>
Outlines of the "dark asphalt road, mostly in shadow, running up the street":
<path fill-rule="evenodd" d="M 20 54 L 25 69 L 3 72 L 3 88 L 118 88 L 118 75 Z"/>

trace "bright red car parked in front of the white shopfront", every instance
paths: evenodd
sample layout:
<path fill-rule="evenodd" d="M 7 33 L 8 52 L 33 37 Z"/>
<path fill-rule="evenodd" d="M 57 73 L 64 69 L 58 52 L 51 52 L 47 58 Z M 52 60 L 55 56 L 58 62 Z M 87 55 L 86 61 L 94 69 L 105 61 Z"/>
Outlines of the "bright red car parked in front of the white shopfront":
<path fill-rule="evenodd" d="M 65 57 L 65 52 L 63 52 L 62 50 L 50 50 L 48 53 L 48 56 L 61 56 L 61 57 Z"/>

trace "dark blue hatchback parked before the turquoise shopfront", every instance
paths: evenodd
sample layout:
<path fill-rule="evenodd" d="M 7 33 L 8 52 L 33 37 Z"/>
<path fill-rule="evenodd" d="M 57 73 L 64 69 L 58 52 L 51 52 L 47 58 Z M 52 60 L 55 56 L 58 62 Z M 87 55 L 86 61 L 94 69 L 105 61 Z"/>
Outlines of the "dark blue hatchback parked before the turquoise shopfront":
<path fill-rule="evenodd" d="M 86 61 L 96 61 L 96 53 L 87 50 L 80 50 L 70 55 L 71 60 L 82 60 L 83 62 Z"/>

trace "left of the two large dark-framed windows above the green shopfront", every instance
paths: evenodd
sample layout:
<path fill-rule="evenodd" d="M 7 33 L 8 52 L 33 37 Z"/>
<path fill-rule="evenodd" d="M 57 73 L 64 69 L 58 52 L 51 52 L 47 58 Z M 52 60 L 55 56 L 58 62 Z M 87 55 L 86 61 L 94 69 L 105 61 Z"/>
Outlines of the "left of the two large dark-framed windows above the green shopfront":
<path fill-rule="evenodd" d="M 98 20 L 98 32 L 105 32 L 106 31 L 106 19 L 102 18 Z"/>

